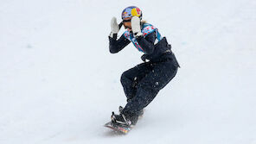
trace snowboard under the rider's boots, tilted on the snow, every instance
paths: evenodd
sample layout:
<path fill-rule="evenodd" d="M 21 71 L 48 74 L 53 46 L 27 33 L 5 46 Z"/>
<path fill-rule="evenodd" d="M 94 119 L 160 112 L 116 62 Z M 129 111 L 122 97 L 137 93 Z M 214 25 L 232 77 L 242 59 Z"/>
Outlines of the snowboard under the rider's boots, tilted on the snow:
<path fill-rule="evenodd" d="M 113 123 L 107 122 L 104 127 L 106 128 L 112 128 L 114 131 L 120 132 L 122 134 L 128 134 L 131 131 L 131 127 L 123 125 L 123 124 L 118 124 L 118 123 Z"/>

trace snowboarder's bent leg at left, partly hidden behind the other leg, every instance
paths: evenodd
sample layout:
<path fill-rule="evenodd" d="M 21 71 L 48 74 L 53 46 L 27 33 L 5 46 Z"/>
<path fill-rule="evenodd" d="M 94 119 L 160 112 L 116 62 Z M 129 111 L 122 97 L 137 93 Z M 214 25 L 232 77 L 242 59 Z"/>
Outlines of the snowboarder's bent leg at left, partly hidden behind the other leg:
<path fill-rule="evenodd" d="M 146 73 L 150 72 L 147 63 L 142 63 L 125 71 L 121 76 L 121 84 L 124 87 L 125 96 L 127 101 L 131 100 L 136 95 L 138 81 L 144 78 Z"/>

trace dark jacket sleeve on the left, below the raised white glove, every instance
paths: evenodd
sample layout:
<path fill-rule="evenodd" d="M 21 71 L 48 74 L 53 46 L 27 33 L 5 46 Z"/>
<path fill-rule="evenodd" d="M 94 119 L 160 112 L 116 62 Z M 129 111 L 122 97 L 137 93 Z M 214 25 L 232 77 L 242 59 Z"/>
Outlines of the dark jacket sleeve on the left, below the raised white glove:
<path fill-rule="evenodd" d="M 127 46 L 131 41 L 127 40 L 122 34 L 122 36 L 117 40 L 117 34 L 112 37 L 109 37 L 109 51 L 110 53 L 118 53 L 125 46 Z"/>

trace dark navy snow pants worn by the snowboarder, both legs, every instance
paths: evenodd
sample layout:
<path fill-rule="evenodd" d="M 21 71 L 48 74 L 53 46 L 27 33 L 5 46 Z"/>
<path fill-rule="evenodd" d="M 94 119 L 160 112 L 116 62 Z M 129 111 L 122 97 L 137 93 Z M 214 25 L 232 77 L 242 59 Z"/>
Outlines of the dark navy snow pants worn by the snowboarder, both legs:
<path fill-rule="evenodd" d="M 178 64 L 173 53 L 157 61 L 144 62 L 124 72 L 121 83 L 127 103 L 122 113 L 133 121 L 138 114 L 176 76 Z"/>

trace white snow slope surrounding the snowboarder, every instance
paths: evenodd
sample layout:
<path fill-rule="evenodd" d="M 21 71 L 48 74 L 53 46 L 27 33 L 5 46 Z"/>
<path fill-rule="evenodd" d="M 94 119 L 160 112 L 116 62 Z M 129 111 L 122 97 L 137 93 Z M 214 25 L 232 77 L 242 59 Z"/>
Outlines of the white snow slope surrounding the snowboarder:
<path fill-rule="evenodd" d="M 125 105 L 119 78 L 142 53 L 111 54 L 107 36 L 130 5 L 182 68 L 117 135 L 103 124 Z M 255 14 L 254 0 L 2 0 L 0 143 L 255 144 Z"/>

